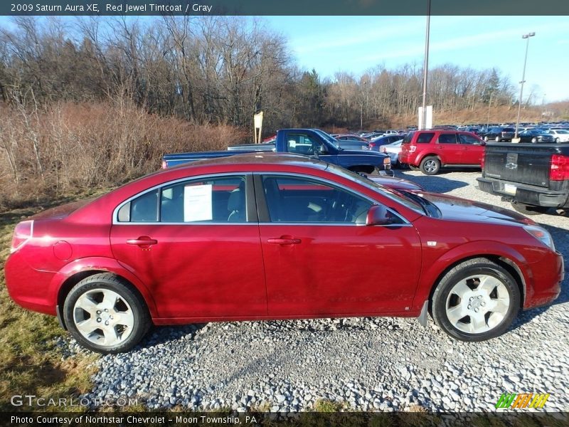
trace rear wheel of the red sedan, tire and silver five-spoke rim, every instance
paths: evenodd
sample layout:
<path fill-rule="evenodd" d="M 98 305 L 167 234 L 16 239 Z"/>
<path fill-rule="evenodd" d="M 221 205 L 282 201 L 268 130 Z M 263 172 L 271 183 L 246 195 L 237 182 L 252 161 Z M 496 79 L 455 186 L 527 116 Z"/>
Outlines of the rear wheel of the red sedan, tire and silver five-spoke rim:
<path fill-rule="evenodd" d="M 129 351 L 151 325 L 142 296 L 111 273 L 92 275 L 75 285 L 65 297 L 63 316 L 83 347 L 103 354 Z"/>

